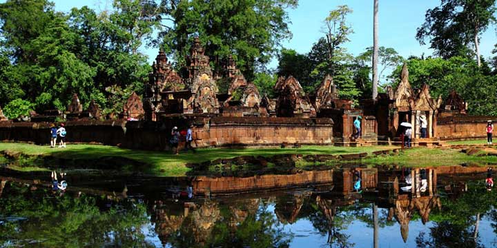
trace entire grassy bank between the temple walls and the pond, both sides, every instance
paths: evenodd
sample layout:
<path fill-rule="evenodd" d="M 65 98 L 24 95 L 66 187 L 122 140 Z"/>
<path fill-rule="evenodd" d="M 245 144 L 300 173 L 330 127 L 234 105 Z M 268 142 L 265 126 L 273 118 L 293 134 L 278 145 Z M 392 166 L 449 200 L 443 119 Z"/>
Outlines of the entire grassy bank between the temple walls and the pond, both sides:
<path fill-rule="evenodd" d="M 461 144 L 461 143 L 455 143 Z M 468 143 L 464 143 L 468 144 Z M 476 143 L 480 144 L 480 143 Z M 182 153 L 179 155 L 171 152 L 144 151 L 133 149 L 122 149 L 119 147 L 104 145 L 68 145 L 67 148 L 52 149 L 48 146 L 30 145 L 25 143 L 0 143 L 0 151 L 18 152 L 26 156 L 34 156 L 35 161 L 26 158 L 19 158 L 19 161 L 25 160 L 23 165 L 12 165 L 12 169 L 20 171 L 36 171 L 48 169 L 47 167 L 57 167 L 57 164 L 34 167 L 36 159 L 43 160 L 39 156 L 50 156 L 50 161 L 88 161 L 88 163 L 99 166 L 100 161 L 110 160 L 110 163 L 104 163 L 102 167 L 96 169 L 108 169 L 105 166 L 115 164 L 113 167 L 123 172 L 142 172 L 144 174 L 153 174 L 157 176 L 184 176 L 190 169 L 186 167 L 187 163 L 201 163 L 204 161 L 213 161 L 218 158 L 234 158 L 237 156 L 275 156 L 277 154 L 356 154 L 362 152 L 371 152 L 392 149 L 388 146 L 371 146 L 371 147 L 334 147 L 334 146 L 303 146 L 301 148 L 271 148 L 271 147 L 246 147 L 246 148 L 206 148 L 197 149 L 197 152 Z M 497 152 L 497 150 L 496 150 Z M 447 147 L 432 149 L 425 147 L 416 147 L 406 149 L 399 154 L 390 154 L 382 156 L 368 156 L 363 158 L 361 163 L 371 165 L 400 165 L 410 167 L 427 167 L 440 165 L 487 165 L 497 164 L 497 156 L 478 156 L 479 154 L 467 155 L 458 149 L 449 149 Z M 38 157 L 37 157 L 38 156 Z M 121 163 L 125 158 L 130 161 L 137 161 L 141 164 L 139 167 L 126 167 Z M 1 158 L 0 163 L 5 163 L 5 158 Z M 340 163 L 340 161 L 336 161 Z M 350 163 L 348 161 L 347 163 Z M 81 165 L 81 163 L 79 163 Z M 86 165 L 86 164 L 85 164 Z M 307 163 L 306 163 L 307 165 Z M 85 166 L 81 166 L 85 169 Z M 78 167 L 79 168 L 79 167 Z"/>

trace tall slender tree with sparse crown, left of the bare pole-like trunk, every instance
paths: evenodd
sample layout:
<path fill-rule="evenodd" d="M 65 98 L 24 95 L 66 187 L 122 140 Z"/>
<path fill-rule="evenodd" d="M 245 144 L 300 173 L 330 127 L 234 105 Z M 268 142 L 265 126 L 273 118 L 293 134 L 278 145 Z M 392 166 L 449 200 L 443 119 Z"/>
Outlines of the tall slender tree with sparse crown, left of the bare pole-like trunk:
<path fill-rule="evenodd" d="M 322 32 L 326 36 L 331 76 L 335 74 L 335 63 L 333 62 L 335 52 L 340 48 L 340 45 L 350 41 L 348 35 L 353 32 L 351 26 L 347 23 L 347 14 L 350 13 L 352 13 L 352 9 L 349 6 L 338 6 L 336 10 L 331 10 L 328 17 L 324 19 Z"/>

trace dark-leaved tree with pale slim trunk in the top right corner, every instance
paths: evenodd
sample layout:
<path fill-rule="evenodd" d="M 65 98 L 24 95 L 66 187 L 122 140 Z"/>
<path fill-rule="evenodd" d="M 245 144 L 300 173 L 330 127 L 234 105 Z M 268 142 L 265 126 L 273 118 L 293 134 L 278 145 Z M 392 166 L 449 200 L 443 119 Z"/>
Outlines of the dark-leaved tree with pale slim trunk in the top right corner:
<path fill-rule="evenodd" d="M 416 39 L 425 44 L 430 37 L 430 48 L 445 59 L 469 54 L 472 43 L 479 67 L 479 37 L 496 21 L 495 3 L 496 0 L 442 0 L 439 7 L 427 10 Z"/>

